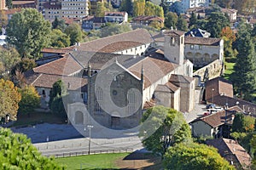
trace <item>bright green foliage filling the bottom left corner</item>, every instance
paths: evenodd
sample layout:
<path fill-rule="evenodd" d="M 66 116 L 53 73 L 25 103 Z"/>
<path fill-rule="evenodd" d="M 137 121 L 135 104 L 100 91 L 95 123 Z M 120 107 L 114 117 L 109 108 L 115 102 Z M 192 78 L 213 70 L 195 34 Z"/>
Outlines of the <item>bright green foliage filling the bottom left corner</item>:
<path fill-rule="evenodd" d="M 64 169 L 53 158 L 42 156 L 30 139 L 21 133 L 0 128 L 0 169 Z"/>

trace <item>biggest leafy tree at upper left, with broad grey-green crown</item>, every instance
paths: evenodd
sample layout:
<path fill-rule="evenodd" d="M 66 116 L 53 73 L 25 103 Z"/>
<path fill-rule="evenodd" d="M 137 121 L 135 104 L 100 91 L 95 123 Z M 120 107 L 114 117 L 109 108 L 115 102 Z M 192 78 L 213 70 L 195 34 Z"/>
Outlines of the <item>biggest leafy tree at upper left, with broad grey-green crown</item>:
<path fill-rule="evenodd" d="M 49 21 L 34 8 L 23 8 L 13 14 L 6 28 L 7 42 L 15 45 L 22 58 L 38 59 L 49 44 Z"/>

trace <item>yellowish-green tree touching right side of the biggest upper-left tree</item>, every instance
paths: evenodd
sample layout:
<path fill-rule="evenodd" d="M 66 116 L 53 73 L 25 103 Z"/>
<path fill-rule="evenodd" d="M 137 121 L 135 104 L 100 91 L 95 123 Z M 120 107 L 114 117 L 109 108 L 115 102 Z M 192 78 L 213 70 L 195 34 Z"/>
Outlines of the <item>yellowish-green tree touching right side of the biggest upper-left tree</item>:
<path fill-rule="evenodd" d="M 52 48 L 65 48 L 70 45 L 70 37 L 59 29 L 52 30 L 50 37 L 50 46 Z"/>

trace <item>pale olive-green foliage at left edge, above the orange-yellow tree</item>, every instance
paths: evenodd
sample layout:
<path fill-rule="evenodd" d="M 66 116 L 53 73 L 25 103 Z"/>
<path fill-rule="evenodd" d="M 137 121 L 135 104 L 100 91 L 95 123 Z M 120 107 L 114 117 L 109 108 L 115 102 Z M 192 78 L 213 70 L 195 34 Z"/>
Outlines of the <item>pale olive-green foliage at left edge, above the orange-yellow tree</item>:
<path fill-rule="evenodd" d="M 5 71 L 10 71 L 17 62 L 20 61 L 20 54 L 16 51 L 15 48 L 3 48 L 0 47 L 0 74 Z"/>

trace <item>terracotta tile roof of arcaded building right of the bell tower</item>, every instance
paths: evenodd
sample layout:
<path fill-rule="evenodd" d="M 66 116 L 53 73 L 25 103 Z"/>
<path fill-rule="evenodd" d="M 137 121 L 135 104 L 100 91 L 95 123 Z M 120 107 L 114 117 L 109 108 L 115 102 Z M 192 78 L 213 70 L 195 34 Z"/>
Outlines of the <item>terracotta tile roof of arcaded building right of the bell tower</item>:
<path fill-rule="evenodd" d="M 221 38 L 212 37 L 185 37 L 185 44 L 201 44 L 218 46 Z"/>

